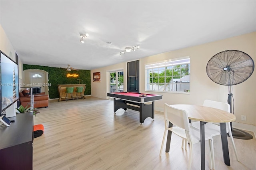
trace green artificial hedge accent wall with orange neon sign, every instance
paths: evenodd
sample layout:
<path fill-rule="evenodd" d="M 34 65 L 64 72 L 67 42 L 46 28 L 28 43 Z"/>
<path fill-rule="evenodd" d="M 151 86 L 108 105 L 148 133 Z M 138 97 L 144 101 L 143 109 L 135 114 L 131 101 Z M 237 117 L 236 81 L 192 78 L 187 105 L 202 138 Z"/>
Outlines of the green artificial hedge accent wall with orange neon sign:
<path fill-rule="evenodd" d="M 56 99 L 59 98 L 58 86 L 62 84 L 77 84 L 77 79 L 82 79 L 83 84 L 86 84 L 86 89 L 84 91 L 84 95 L 91 95 L 91 71 L 90 70 L 78 70 L 78 71 L 66 71 L 62 68 L 56 67 L 48 67 L 41 65 L 28 65 L 23 64 L 23 70 L 27 69 L 40 69 L 47 71 L 49 76 L 49 98 Z M 78 74 L 78 77 L 66 77 L 66 75 L 70 74 Z M 81 82 L 82 83 L 82 82 Z"/>

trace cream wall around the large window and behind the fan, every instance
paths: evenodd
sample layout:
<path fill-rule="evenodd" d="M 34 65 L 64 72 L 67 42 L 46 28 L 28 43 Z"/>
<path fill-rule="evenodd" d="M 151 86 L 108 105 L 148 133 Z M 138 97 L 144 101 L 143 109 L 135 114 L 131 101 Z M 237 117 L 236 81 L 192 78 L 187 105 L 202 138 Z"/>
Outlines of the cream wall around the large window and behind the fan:
<path fill-rule="evenodd" d="M 218 85 L 209 79 L 206 74 L 206 64 L 212 56 L 216 53 L 225 50 L 240 50 L 252 57 L 256 61 L 256 32 L 220 40 L 216 42 L 197 45 L 175 51 L 170 51 L 158 55 L 144 57 L 140 59 L 140 92 L 147 93 L 145 89 L 145 71 L 144 65 L 165 59 L 176 57 L 190 56 L 190 94 L 177 94 L 177 93 L 155 93 L 163 95 L 161 101 L 155 102 L 155 109 L 163 111 L 164 103 L 168 104 L 194 104 L 202 105 L 204 99 L 211 99 L 215 101 L 225 102 L 228 99 L 228 87 Z M 100 69 L 91 70 L 91 77 L 93 72 L 101 72 L 101 82 L 91 82 L 91 95 L 106 99 L 108 89 L 107 71 L 124 68 L 124 75 L 127 76 L 126 63 L 119 63 Z M 244 123 L 248 125 L 256 125 L 256 71 L 252 76 L 240 83 L 233 86 L 234 96 L 234 115 L 236 115 L 237 123 Z M 124 84 L 127 84 L 124 78 Z M 124 87 L 126 91 L 127 87 Z M 150 92 L 152 93 L 152 92 Z M 241 121 L 241 115 L 246 115 L 246 121 Z"/>

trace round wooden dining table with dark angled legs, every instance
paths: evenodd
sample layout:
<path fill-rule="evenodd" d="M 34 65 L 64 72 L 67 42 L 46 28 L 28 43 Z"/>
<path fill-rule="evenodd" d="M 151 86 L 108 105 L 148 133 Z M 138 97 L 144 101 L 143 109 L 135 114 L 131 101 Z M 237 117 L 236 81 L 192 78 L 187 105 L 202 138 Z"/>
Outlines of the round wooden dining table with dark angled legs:
<path fill-rule="evenodd" d="M 204 134 L 204 125 L 208 122 L 220 123 L 220 136 L 222 143 L 222 152 L 224 163 L 230 166 L 230 158 L 228 152 L 228 138 L 226 131 L 226 123 L 236 120 L 236 116 L 232 113 L 215 109 L 212 107 L 205 107 L 199 105 L 170 105 L 177 109 L 185 110 L 188 113 L 188 119 L 194 121 L 200 121 L 200 145 L 201 145 L 201 169 L 205 169 L 205 134 Z M 172 124 L 169 124 L 169 127 L 172 127 Z M 167 142 L 166 142 L 166 152 L 170 150 L 172 132 L 168 131 Z"/>

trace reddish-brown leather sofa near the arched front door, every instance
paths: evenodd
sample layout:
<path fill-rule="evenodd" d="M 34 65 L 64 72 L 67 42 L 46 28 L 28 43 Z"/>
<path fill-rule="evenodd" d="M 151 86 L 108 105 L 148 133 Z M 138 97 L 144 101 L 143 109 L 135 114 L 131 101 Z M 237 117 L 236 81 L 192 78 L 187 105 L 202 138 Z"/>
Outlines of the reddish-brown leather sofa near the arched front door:
<path fill-rule="evenodd" d="M 29 89 L 24 89 L 19 93 L 20 105 L 26 107 L 30 106 L 30 91 Z M 49 95 L 46 95 L 44 92 L 34 94 L 34 108 L 48 107 Z"/>

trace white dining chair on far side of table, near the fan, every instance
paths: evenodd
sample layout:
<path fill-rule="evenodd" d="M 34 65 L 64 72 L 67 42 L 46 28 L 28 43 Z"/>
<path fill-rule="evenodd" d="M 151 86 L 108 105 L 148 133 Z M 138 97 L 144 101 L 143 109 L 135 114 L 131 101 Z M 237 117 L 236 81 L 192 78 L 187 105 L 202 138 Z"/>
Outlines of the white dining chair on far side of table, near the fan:
<path fill-rule="evenodd" d="M 206 107 L 212 107 L 215 109 L 220 109 L 226 112 L 230 113 L 230 105 L 228 103 L 222 103 L 222 102 L 218 102 L 218 101 L 212 101 L 212 100 L 204 100 L 203 106 Z M 231 114 L 231 113 L 230 113 Z M 192 122 L 191 123 L 193 127 L 199 128 L 200 129 L 200 122 Z M 217 136 L 220 135 L 220 125 L 216 125 L 215 123 L 206 123 L 206 125 L 204 125 L 204 130 L 207 133 L 212 134 L 213 136 Z M 234 138 L 232 135 L 232 131 L 231 131 L 231 126 L 230 123 L 226 123 L 226 131 L 229 134 L 229 137 L 232 141 L 232 145 L 233 145 L 233 149 L 236 155 L 236 160 L 239 161 L 238 159 L 238 154 L 236 151 L 236 145 L 234 143 Z"/>

